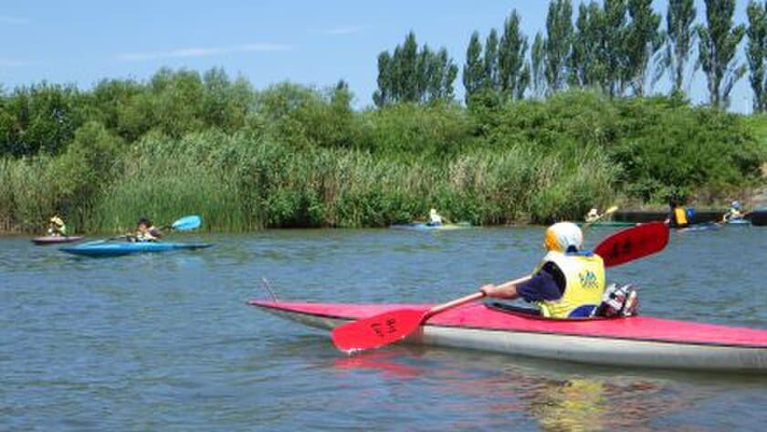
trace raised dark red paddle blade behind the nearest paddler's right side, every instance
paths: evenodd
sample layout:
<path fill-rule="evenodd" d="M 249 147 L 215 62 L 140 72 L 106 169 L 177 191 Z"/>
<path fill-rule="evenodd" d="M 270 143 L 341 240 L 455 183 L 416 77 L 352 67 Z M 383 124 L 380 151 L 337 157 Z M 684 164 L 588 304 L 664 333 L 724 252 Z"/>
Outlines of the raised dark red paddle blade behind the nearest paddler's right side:
<path fill-rule="evenodd" d="M 652 255 L 666 248 L 667 244 L 668 226 L 663 222 L 650 222 L 605 238 L 594 248 L 594 253 L 604 259 L 605 267 L 612 267 Z"/>

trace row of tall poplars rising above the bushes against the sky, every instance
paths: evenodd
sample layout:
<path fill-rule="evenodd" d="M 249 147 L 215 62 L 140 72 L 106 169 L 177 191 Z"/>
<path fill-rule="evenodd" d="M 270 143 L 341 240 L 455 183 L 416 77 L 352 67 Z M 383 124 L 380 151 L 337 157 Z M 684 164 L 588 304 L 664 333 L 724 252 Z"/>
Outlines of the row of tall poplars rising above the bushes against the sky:
<path fill-rule="evenodd" d="M 735 83 L 748 74 L 753 110 L 767 111 L 767 0 L 749 1 L 747 25 L 733 21 L 735 0 L 704 3 L 699 16 L 694 0 L 669 0 L 664 20 L 652 0 L 592 0 L 580 3 L 577 13 L 571 0 L 552 0 L 545 31 L 536 33 L 532 46 L 513 10 L 484 43 L 477 31 L 469 38 L 462 76 L 466 103 L 541 98 L 573 88 L 641 97 L 653 94 L 663 75 L 672 84 L 670 93 L 684 93 L 701 70 L 711 106 L 728 108 Z M 381 53 L 373 96 L 378 106 L 452 100 L 454 61 L 444 48 L 436 62 L 426 61 L 434 57 L 429 47 L 417 51 L 411 32 L 393 55 Z M 445 65 L 436 81 L 425 78 L 433 63 Z"/>

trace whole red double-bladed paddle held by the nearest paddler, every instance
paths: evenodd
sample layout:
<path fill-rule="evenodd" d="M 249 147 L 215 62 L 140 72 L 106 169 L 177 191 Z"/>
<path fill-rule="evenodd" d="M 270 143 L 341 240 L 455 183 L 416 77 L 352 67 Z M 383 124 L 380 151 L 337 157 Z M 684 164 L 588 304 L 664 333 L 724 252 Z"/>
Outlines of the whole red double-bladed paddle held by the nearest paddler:
<path fill-rule="evenodd" d="M 666 248 L 667 243 L 667 225 L 663 222 L 651 222 L 618 231 L 605 238 L 594 248 L 594 253 L 604 259 L 605 267 L 613 267 L 652 255 Z M 525 276 L 504 285 L 516 285 L 530 278 L 530 276 Z M 386 311 L 369 318 L 340 325 L 333 329 L 331 338 L 335 346 L 345 353 L 379 348 L 402 341 L 410 333 L 415 332 L 423 322 L 437 313 L 457 308 L 483 297 L 485 297 L 485 293 L 479 291 L 427 310 Z"/>

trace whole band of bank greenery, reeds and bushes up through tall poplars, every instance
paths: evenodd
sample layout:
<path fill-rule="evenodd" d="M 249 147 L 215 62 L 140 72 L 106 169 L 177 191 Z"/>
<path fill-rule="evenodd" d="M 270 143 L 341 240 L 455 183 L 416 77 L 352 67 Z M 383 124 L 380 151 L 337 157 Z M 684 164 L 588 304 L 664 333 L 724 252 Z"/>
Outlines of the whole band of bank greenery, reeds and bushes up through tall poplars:
<path fill-rule="evenodd" d="M 456 62 L 413 33 L 378 57 L 376 106 L 362 111 L 342 80 L 255 90 L 220 68 L 0 91 L 0 231 L 35 231 L 54 213 L 87 231 L 190 213 L 230 231 L 381 227 L 430 207 L 543 223 L 670 194 L 741 197 L 763 184 L 767 117 L 721 108 L 748 69 L 764 110 L 767 3 L 735 26 L 729 0 L 706 1 L 705 25 L 692 1 L 670 1 L 665 29 L 650 3 L 581 4 L 573 21 L 571 2 L 554 0 L 532 46 L 516 12 L 475 32 L 465 104 Z M 698 66 L 709 106 L 685 96 Z M 648 97 L 658 74 L 674 90 Z"/>

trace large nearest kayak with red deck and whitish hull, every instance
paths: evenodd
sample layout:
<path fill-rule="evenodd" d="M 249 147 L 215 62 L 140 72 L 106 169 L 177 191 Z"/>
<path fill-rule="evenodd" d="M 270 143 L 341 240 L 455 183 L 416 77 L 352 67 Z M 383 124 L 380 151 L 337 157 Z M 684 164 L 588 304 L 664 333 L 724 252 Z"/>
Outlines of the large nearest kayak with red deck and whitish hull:
<path fill-rule="evenodd" d="M 432 306 L 260 300 L 250 304 L 321 329 L 384 311 L 426 311 Z M 645 316 L 552 320 L 474 303 L 435 315 L 406 342 L 584 364 L 767 374 L 767 330 Z"/>

